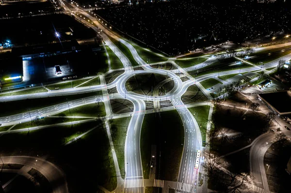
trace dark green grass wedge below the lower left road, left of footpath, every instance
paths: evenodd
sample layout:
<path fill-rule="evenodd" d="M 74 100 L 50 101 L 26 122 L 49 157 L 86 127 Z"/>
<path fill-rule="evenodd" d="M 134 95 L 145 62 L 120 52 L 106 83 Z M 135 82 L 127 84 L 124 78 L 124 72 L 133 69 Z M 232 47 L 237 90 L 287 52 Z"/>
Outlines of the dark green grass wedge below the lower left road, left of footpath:
<path fill-rule="evenodd" d="M 65 110 L 55 116 L 65 113 L 66 116 L 84 116 L 84 117 L 105 117 L 106 111 L 103 102 L 86 104 L 78 106 L 75 108 L 70 108 L 70 110 Z"/>

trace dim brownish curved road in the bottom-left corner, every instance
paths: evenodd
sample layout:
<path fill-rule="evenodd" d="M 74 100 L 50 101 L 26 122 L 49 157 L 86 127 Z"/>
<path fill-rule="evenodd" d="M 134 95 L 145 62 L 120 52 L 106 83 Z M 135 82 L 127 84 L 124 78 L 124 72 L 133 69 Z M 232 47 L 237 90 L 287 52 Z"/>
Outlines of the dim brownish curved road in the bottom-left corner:
<path fill-rule="evenodd" d="M 38 170 L 49 180 L 53 193 L 69 192 L 64 172 L 53 163 L 29 156 L 1 157 L 1 160 L 3 163 L 17 163 L 24 165 L 23 167 L 30 167 Z"/>

